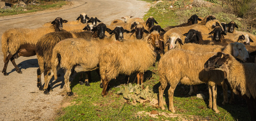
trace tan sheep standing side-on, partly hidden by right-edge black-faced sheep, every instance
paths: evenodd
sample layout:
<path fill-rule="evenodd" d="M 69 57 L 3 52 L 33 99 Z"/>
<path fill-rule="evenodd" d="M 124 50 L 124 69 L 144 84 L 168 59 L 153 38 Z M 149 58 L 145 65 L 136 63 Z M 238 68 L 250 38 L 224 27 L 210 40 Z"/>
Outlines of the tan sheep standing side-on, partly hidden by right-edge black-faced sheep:
<path fill-rule="evenodd" d="M 231 44 L 222 52 L 233 54 L 237 58 L 246 61 L 249 57 L 248 52 L 244 45 L 241 45 L 243 48 L 237 48 L 237 46 L 233 46 Z M 161 107 L 162 110 L 164 110 L 163 92 L 167 83 L 170 83 L 170 89 L 168 90 L 169 111 L 175 113 L 173 107 L 173 93 L 178 82 L 188 85 L 207 82 L 209 86 L 209 93 L 210 95 L 213 94 L 214 98 L 212 105 L 212 97 L 210 96 L 209 107 L 216 113 L 219 113 L 216 106 L 216 84 L 224 84 L 224 73 L 222 71 L 212 71 L 207 73 L 202 66 L 213 53 L 214 52 L 196 53 L 190 50 L 172 49 L 162 56 L 158 64 L 159 82 L 161 83 L 161 86 L 159 86 L 159 107 Z M 224 100 L 222 104 L 225 102 L 227 101 Z"/>

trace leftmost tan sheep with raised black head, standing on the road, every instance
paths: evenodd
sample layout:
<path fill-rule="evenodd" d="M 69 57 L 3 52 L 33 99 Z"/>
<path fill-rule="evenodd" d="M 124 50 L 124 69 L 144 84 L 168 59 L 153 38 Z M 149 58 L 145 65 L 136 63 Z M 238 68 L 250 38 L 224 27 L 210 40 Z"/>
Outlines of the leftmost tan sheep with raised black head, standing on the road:
<path fill-rule="evenodd" d="M 37 29 L 11 28 L 5 31 L 2 35 L 2 52 L 4 54 L 2 73 L 8 75 L 6 69 L 9 60 L 13 63 L 16 71 L 22 73 L 17 67 L 14 58 L 36 55 L 36 42 L 38 39 L 46 33 L 61 31 L 63 29 L 62 23 L 67 23 L 67 20 L 57 17 L 52 21 L 52 26 L 50 27 L 39 27 Z"/>

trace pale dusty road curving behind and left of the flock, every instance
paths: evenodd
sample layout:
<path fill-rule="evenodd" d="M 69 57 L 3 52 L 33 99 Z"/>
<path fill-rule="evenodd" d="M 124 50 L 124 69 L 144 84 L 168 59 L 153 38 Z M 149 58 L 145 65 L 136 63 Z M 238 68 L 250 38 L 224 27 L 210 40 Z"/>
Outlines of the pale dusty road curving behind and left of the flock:
<path fill-rule="evenodd" d="M 58 10 L 0 17 L 0 36 L 7 29 L 14 27 L 31 29 L 41 27 L 56 17 L 75 21 L 80 13 L 86 13 L 88 17 L 97 17 L 105 24 L 110 24 L 114 19 L 120 19 L 123 16 L 143 18 L 150 7 L 149 3 L 136 0 L 70 1 L 72 5 L 63 6 Z M 0 52 L 0 60 L 3 60 L 2 52 Z M 9 75 L 0 74 L 0 121 L 53 120 L 61 108 L 61 101 L 67 96 L 63 88 L 63 74 L 57 81 L 51 83 L 53 92 L 45 95 L 36 86 L 36 70 L 38 69 L 36 56 L 21 56 L 15 59 L 15 62 L 22 74 L 17 73 L 10 62 L 7 67 Z M 3 66 L 2 61 L 0 68 Z"/>

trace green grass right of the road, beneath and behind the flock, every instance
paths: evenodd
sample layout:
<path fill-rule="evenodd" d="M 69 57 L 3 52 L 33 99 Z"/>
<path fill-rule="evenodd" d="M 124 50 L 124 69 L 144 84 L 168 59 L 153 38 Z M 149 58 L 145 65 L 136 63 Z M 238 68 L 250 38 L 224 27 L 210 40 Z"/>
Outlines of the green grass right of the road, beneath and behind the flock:
<path fill-rule="evenodd" d="M 162 28 L 170 25 L 178 25 L 187 22 L 191 15 L 197 14 L 199 17 L 207 15 L 215 15 L 221 22 L 229 23 L 235 21 L 239 26 L 239 31 L 251 31 L 250 23 L 245 23 L 246 14 L 235 14 L 234 11 L 222 7 L 220 0 L 208 0 L 212 2 L 210 8 L 207 7 L 190 7 L 192 0 L 164 0 L 164 2 L 156 3 L 155 1 L 145 0 L 151 2 L 152 7 L 143 18 L 146 20 L 148 17 L 153 16 L 161 25 Z M 220 6 L 219 6 L 220 5 Z M 172 8 L 170 7 L 172 6 Z M 229 12 L 231 11 L 231 12 Z M 252 26 L 252 33 L 256 34 L 255 26 Z M 109 82 L 108 95 L 103 98 L 101 96 L 102 88 L 100 88 L 100 79 L 95 71 L 91 73 L 92 82 L 90 86 L 80 85 L 79 74 L 75 75 L 71 82 L 71 90 L 74 96 L 66 96 L 63 100 L 63 108 L 58 111 L 56 120 L 142 120 L 142 121 L 158 121 L 158 120 L 195 120 L 195 121 L 249 121 L 250 115 L 247 109 L 246 100 L 239 96 L 235 96 L 234 104 L 222 105 L 223 91 L 222 87 L 218 86 L 217 105 L 220 111 L 216 114 L 212 109 L 208 108 L 209 93 L 206 84 L 198 85 L 198 92 L 204 94 L 205 99 L 196 97 L 196 94 L 190 96 L 189 86 L 179 85 L 174 92 L 174 108 L 176 113 L 168 111 L 168 89 L 166 87 L 164 92 L 164 104 L 166 110 L 158 107 L 157 99 L 154 98 L 154 93 L 158 97 L 158 82 L 159 76 L 157 74 L 157 64 L 151 67 L 144 75 L 144 86 L 148 86 L 148 90 L 152 92 L 146 95 L 145 92 L 136 87 L 136 74 L 129 77 L 129 81 L 125 80 L 124 75 L 120 75 L 117 79 Z M 131 84 L 130 84 L 131 83 Z M 135 88 L 136 87 L 136 88 Z M 125 89 L 126 88 L 126 89 Z M 127 89 L 129 91 L 127 92 Z M 131 91 L 132 89 L 132 91 Z M 63 88 L 64 90 L 64 88 Z M 126 90 L 126 91 L 125 91 Z M 137 94 L 137 90 L 140 96 Z M 121 93 L 122 92 L 122 93 Z M 124 94 L 126 92 L 126 94 Z M 129 97 L 130 94 L 130 97 Z M 132 98 L 131 96 L 134 96 Z M 230 93 L 229 93 L 230 95 Z M 138 100 L 138 96 L 140 100 Z M 151 98 L 149 98 L 151 97 Z M 229 96 L 230 98 L 230 96 Z"/>

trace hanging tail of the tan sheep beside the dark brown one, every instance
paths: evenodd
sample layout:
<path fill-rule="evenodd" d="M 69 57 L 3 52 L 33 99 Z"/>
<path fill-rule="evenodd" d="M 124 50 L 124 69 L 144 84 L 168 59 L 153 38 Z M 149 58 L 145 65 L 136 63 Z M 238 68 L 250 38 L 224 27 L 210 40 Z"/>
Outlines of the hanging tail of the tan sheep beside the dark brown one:
<path fill-rule="evenodd" d="M 55 50 L 52 50 L 52 60 L 51 60 L 51 68 L 54 74 L 54 79 L 57 80 L 57 71 L 58 71 L 58 65 L 61 63 L 61 55 L 56 52 Z"/>

